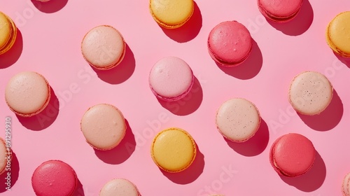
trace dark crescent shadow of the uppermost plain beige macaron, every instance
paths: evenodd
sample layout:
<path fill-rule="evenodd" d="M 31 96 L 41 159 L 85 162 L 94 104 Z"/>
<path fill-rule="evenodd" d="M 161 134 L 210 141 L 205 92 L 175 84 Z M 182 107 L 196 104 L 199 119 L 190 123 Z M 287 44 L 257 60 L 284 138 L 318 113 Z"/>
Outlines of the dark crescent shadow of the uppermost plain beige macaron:
<path fill-rule="evenodd" d="M 104 80 L 106 83 L 120 84 L 132 76 L 132 73 L 134 73 L 135 70 L 135 65 L 136 62 L 134 53 L 126 43 L 125 56 L 120 64 L 109 70 L 99 70 L 95 69 L 94 67 L 92 67 L 92 69 L 94 69 L 94 71 L 97 73 L 97 76 L 101 80 Z"/>

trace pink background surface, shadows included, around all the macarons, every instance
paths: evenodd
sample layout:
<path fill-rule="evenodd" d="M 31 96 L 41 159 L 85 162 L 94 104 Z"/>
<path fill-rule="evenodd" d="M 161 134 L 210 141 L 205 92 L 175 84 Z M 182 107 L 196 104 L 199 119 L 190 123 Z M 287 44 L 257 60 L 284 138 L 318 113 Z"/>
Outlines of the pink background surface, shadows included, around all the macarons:
<path fill-rule="evenodd" d="M 328 48 L 325 28 L 350 1 L 305 0 L 297 18 L 280 25 L 267 22 L 255 0 L 196 1 L 193 18 L 174 30 L 156 24 L 148 0 L 0 0 L 0 5 L 20 30 L 14 48 L 0 56 L 0 126 L 6 116 L 12 118 L 15 153 L 13 188 L 5 191 L 0 176 L 2 195 L 34 195 L 31 174 L 51 159 L 75 169 L 76 195 L 98 195 L 113 178 L 129 179 L 146 196 L 341 195 L 342 179 L 350 172 L 344 149 L 350 60 Z M 230 69 L 216 65 L 207 52 L 209 31 L 226 20 L 246 25 L 255 41 L 246 62 Z M 97 25 L 112 25 L 125 38 L 127 53 L 116 69 L 96 71 L 80 53 L 83 36 Z M 148 87 L 151 67 L 166 56 L 184 59 L 197 78 L 179 102 L 159 102 Z M 335 88 L 320 116 L 299 116 L 288 103 L 290 80 L 306 70 L 324 73 Z M 52 87 L 55 95 L 39 116 L 18 118 L 6 106 L 5 85 L 19 71 L 37 71 Z M 262 116 L 260 130 L 244 144 L 225 141 L 214 123 L 218 107 L 232 97 L 249 99 Z M 94 151 L 80 132 L 81 116 L 99 103 L 117 106 L 129 125 L 111 151 Z M 186 171 L 167 174 L 153 163 L 150 146 L 157 132 L 174 126 L 190 132 L 199 152 Z M 318 151 L 314 167 L 296 179 L 280 177 L 269 164 L 272 142 L 288 132 L 304 134 Z"/>

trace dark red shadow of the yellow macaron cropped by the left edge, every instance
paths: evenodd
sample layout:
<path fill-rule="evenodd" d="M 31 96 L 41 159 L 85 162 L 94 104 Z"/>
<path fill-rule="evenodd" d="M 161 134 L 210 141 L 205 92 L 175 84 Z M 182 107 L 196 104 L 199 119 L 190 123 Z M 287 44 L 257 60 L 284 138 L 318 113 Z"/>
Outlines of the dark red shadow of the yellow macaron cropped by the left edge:
<path fill-rule="evenodd" d="M 23 37 L 20 29 L 17 29 L 17 36 L 12 48 L 7 52 L 0 55 L 0 69 L 7 68 L 15 64 L 22 55 L 23 50 Z"/>

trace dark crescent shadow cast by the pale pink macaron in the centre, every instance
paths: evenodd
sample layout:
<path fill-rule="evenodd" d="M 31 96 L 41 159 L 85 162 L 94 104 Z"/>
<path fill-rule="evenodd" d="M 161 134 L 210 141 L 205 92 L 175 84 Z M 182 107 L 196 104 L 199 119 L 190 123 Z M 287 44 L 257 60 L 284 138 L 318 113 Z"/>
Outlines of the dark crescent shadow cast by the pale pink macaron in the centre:
<path fill-rule="evenodd" d="M 186 116 L 197 111 L 202 104 L 202 100 L 202 86 L 200 85 L 200 81 L 195 77 L 193 86 L 185 97 L 175 102 L 166 102 L 161 99 L 158 99 L 158 102 L 168 111 L 178 116 Z"/>

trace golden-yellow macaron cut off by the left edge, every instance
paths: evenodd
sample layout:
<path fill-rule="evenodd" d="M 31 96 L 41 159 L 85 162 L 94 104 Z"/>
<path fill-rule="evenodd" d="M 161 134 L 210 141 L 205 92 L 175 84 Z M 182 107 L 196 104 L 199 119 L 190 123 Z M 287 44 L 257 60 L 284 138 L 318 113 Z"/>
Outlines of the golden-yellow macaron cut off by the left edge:
<path fill-rule="evenodd" d="M 0 12 L 0 55 L 12 48 L 17 37 L 15 22 L 5 13 Z"/>

